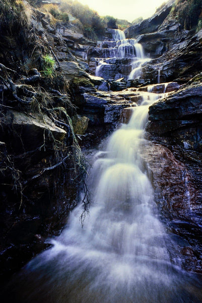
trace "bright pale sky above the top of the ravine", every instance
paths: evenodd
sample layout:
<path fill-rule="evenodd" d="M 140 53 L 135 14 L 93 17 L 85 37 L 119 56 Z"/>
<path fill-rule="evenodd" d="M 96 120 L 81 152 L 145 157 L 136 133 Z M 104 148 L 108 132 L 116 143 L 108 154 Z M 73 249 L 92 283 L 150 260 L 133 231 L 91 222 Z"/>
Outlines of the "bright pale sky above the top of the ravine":
<path fill-rule="evenodd" d="M 78 0 L 100 16 L 113 16 L 132 22 L 138 17 L 152 16 L 156 9 L 168 0 Z"/>

